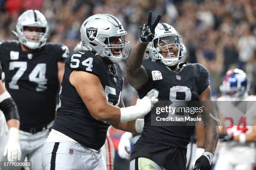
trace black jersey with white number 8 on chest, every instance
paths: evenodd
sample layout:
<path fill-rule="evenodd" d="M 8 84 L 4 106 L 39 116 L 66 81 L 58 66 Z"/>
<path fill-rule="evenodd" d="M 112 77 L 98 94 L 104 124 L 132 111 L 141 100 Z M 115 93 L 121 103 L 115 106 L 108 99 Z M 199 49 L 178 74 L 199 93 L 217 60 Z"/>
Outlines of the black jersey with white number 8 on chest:
<path fill-rule="evenodd" d="M 143 60 L 143 67 L 145 67 L 149 79 L 141 89 L 137 90 L 139 97 L 144 97 L 149 90 L 155 88 L 159 90 L 159 101 L 199 100 L 199 95 L 209 85 L 208 70 L 201 64 L 181 63 L 179 66 L 181 70 L 177 73 L 160 62 Z M 160 150 L 151 153 L 151 147 L 157 148 L 158 145 L 161 149 L 162 146 L 166 146 L 166 149 L 170 147 L 186 148 L 195 126 L 151 126 L 150 113 L 144 117 L 144 122 L 143 132 L 133 148 L 131 160 L 144 156 L 168 170 L 171 169 L 169 167 L 171 165 L 166 165 L 169 158 L 163 158 Z M 168 156 L 166 153 L 164 155 Z M 171 157 L 172 154 L 169 156 Z"/>

